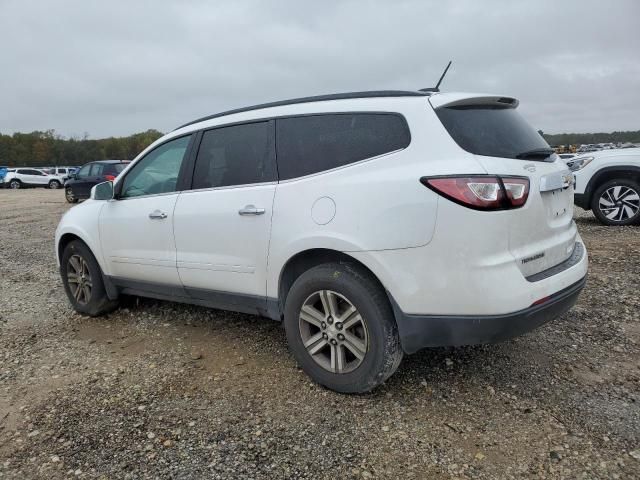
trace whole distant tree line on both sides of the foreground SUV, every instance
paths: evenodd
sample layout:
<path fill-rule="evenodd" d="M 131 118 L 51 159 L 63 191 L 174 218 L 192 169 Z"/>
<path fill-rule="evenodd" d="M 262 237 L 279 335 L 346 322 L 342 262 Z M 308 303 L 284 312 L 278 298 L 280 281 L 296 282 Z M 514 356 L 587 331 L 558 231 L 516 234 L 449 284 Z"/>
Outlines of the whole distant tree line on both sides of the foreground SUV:
<path fill-rule="evenodd" d="M 580 145 L 585 143 L 640 143 L 640 130 L 612 133 L 540 132 L 549 145 Z M 65 138 L 54 130 L 46 132 L 0 134 L 0 165 L 9 167 L 79 166 L 94 160 L 131 160 L 150 143 L 162 136 L 157 130 L 135 133 L 128 137 L 91 140 Z"/>

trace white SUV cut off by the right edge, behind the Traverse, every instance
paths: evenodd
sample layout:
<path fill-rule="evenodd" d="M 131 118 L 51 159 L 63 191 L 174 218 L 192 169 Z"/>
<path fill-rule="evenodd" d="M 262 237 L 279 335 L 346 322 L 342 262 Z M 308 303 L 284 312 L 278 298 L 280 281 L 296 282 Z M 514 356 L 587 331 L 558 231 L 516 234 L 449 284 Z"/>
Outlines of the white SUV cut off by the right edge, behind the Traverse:
<path fill-rule="evenodd" d="M 605 225 L 640 224 L 640 148 L 591 152 L 566 160 L 575 203 Z"/>

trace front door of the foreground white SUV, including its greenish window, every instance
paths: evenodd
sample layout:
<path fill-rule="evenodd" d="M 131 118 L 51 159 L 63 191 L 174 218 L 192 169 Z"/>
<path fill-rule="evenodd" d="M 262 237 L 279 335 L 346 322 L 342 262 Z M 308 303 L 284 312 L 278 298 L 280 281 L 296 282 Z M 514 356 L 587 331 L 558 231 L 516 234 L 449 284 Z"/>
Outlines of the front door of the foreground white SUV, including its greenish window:
<path fill-rule="evenodd" d="M 116 284 L 147 293 L 182 290 L 173 212 L 190 145 L 187 135 L 147 153 L 118 179 L 115 198 L 100 211 L 103 258 Z"/>

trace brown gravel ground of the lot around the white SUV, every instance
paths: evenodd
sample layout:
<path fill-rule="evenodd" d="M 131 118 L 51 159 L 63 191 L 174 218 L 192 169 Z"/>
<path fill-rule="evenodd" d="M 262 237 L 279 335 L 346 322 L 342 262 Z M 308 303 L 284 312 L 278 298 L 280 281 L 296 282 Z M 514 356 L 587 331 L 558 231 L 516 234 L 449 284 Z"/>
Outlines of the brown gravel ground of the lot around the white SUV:
<path fill-rule="evenodd" d="M 127 299 L 69 307 L 61 191 L 0 190 L 0 478 L 639 478 L 640 229 L 576 214 L 587 287 L 557 321 L 312 384 L 275 322 Z"/>

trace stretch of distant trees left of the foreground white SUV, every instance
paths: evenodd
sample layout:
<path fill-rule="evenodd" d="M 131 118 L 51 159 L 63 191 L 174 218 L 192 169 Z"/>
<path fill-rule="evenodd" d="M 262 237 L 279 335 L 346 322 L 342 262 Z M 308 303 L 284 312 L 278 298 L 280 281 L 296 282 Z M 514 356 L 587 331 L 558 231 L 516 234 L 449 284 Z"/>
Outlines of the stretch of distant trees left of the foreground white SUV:
<path fill-rule="evenodd" d="M 131 160 L 162 136 L 157 130 L 98 140 L 65 138 L 54 130 L 0 134 L 0 165 L 9 167 L 80 166 L 94 160 Z"/>

